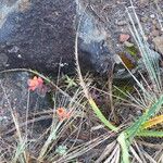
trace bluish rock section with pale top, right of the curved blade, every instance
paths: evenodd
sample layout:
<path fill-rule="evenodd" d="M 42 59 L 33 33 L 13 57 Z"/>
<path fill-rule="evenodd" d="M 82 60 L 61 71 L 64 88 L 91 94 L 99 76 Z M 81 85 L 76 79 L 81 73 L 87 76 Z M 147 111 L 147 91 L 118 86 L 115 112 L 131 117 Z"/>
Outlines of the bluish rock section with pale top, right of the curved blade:
<path fill-rule="evenodd" d="M 78 4 L 77 14 L 79 16 L 79 40 L 78 49 L 80 62 L 84 66 L 88 63 L 89 70 L 101 74 L 108 72 L 112 66 L 112 54 L 106 45 L 106 32 L 104 25 L 93 16 L 93 14 L 82 4 Z"/>

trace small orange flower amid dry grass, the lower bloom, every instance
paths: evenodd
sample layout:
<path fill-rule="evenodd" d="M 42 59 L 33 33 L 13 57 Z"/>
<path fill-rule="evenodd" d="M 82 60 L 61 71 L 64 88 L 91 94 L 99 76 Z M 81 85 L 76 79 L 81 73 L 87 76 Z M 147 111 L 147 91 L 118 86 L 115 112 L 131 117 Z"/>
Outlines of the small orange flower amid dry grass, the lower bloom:
<path fill-rule="evenodd" d="M 58 108 L 57 109 L 57 115 L 60 121 L 64 121 L 65 118 L 71 117 L 71 112 L 67 112 L 64 108 Z"/>

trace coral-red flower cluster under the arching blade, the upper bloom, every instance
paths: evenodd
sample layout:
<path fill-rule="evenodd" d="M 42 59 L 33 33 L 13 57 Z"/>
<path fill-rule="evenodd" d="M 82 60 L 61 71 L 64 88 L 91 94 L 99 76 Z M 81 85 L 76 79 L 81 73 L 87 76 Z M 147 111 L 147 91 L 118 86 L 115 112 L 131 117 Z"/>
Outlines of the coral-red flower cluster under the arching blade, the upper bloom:
<path fill-rule="evenodd" d="M 33 79 L 28 79 L 29 90 L 35 90 L 36 88 L 41 88 L 43 85 L 43 80 L 41 77 L 34 76 Z"/>

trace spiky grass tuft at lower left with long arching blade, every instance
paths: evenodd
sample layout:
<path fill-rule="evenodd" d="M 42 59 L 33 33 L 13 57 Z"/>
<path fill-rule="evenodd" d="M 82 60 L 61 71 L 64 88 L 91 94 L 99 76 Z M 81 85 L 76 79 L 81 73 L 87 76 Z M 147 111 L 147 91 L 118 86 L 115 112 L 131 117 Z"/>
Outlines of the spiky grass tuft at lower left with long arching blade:
<path fill-rule="evenodd" d="M 51 80 L 49 80 L 48 77 L 45 77 L 43 75 L 41 75 L 37 72 L 34 72 L 34 71 L 12 70 L 12 71 L 5 71 L 5 73 L 17 72 L 17 71 L 30 72 L 35 75 L 40 76 L 46 82 L 50 83 L 54 88 L 57 88 L 57 89 L 59 88 L 55 84 L 53 84 Z M 2 73 L 4 73 L 4 72 L 1 72 L 1 74 Z M 83 97 L 79 97 L 79 95 L 80 95 L 79 89 L 76 90 L 76 93 L 72 98 L 65 91 L 63 91 L 59 88 L 58 89 L 59 92 L 57 95 L 59 95 L 60 97 L 63 97 L 63 99 L 62 98 L 59 99 L 59 97 L 57 97 L 57 96 L 54 96 L 53 99 L 59 99 L 60 102 L 61 102 L 60 104 L 62 104 L 62 106 L 71 108 L 72 115 L 75 112 L 75 115 L 73 115 L 73 118 L 67 120 L 65 122 L 60 122 L 58 120 L 57 115 L 55 115 L 55 110 L 59 106 L 58 105 L 59 102 L 57 103 L 54 101 L 53 109 L 47 110 L 46 112 L 42 112 L 42 113 L 37 112 L 35 114 L 38 114 L 39 116 L 38 117 L 34 116 L 34 118 L 29 120 L 30 109 L 29 109 L 28 103 L 29 103 L 30 99 L 27 98 L 28 100 L 27 100 L 26 115 L 25 115 L 24 122 L 22 122 L 20 120 L 20 117 L 17 116 L 17 113 L 16 113 L 17 111 L 15 109 L 13 109 L 12 105 L 11 105 L 11 101 L 10 101 L 8 95 L 7 95 L 7 90 L 5 90 L 5 87 L 3 86 L 2 82 L 0 82 L 0 86 L 1 86 L 1 89 L 3 90 L 3 95 L 4 95 L 3 98 L 7 100 L 7 102 L 9 104 L 9 110 L 10 110 L 10 113 L 11 113 L 11 116 L 12 116 L 12 120 L 13 120 L 13 123 L 14 123 L 13 128 L 9 128 L 5 133 L 1 133 L 1 145 L 2 145 L 2 141 L 3 141 L 4 142 L 3 146 L 7 149 L 9 148 L 8 152 L 1 151 L 1 154 L 3 153 L 1 155 L 1 160 L 5 160 L 4 155 L 9 155 L 7 162 L 13 162 L 13 163 L 14 162 L 21 162 L 21 163 L 24 162 L 24 163 L 27 163 L 30 160 L 30 158 L 35 158 L 36 160 L 39 160 L 39 161 L 47 160 L 47 158 L 48 158 L 47 154 L 52 150 L 52 148 L 54 148 L 54 145 L 58 142 L 58 140 L 60 139 L 62 134 L 66 130 L 66 128 L 73 123 L 73 121 L 77 116 L 80 116 L 80 117 L 83 116 L 83 114 L 79 114 L 79 112 L 83 113 L 83 108 L 84 106 L 82 104 L 80 105 L 77 104 L 77 103 L 80 103 L 80 100 L 83 99 Z M 30 114 L 33 114 L 32 111 L 30 111 Z M 42 114 L 42 116 L 41 116 L 41 114 Z M 29 126 L 34 126 L 33 124 L 35 124 L 39 121 L 42 121 L 42 120 L 46 121 L 46 118 L 52 120 L 52 124 L 49 127 L 49 129 L 47 129 L 47 131 L 43 133 L 42 136 L 40 136 L 38 138 L 38 140 L 35 140 L 35 141 L 30 140 L 28 138 L 28 136 L 29 136 L 28 130 L 30 128 Z M 22 128 L 25 128 L 25 133 L 22 133 Z M 33 130 L 33 128 L 32 128 L 32 130 Z M 15 139 L 13 139 L 13 138 L 12 139 L 13 139 L 13 141 L 16 141 L 16 143 L 15 145 L 14 143 L 12 145 L 12 142 L 11 142 L 11 145 L 5 143 L 5 137 L 8 139 L 8 135 L 10 135 L 13 131 L 15 131 Z M 48 138 L 46 138 L 45 136 L 48 137 Z M 40 143 L 41 140 L 45 141 L 45 143 L 42 145 L 42 147 L 40 147 L 40 149 L 36 150 L 36 147 Z M 66 140 L 65 140 L 65 145 L 66 145 Z M 33 154 L 30 149 L 35 149 L 36 153 Z M 2 150 L 2 147 L 0 147 L 0 150 Z M 11 150 L 12 150 L 12 152 L 11 152 Z M 59 152 L 57 152 L 54 155 L 58 155 L 58 153 L 60 153 L 60 152 L 61 152 L 61 150 Z"/>

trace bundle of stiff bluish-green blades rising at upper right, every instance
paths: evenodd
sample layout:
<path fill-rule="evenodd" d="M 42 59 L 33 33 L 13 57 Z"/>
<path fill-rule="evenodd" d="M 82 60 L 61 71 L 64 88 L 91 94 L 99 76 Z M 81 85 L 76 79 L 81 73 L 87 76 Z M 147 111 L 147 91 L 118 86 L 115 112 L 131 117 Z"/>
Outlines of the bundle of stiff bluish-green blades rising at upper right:
<path fill-rule="evenodd" d="M 162 82 L 161 82 L 161 72 L 160 72 L 160 67 L 159 67 L 159 55 L 156 52 L 154 52 L 153 50 L 151 50 L 149 47 L 149 43 L 146 41 L 146 35 L 143 33 L 142 26 L 140 24 L 140 21 L 136 14 L 136 11 L 134 9 L 133 2 L 130 0 L 130 4 L 131 4 L 131 9 L 133 9 L 133 13 L 134 13 L 134 17 L 138 24 L 138 27 L 135 25 L 134 22 L 134 17 L 130 14 L 130 12 L 127 10 L 127 14 L 129 17 L 129 21 L 131 23 L 131 27 L 129 27 L 130 33 L 133 34 L 135 41 L 137 42 L 137 46 L 140 50 L 141 57 L 143 59 L 143 63 L 145 66 L 147 68 L 147 72 L 149 74 L 149 77 L 152 82 L 153 85 L 156 85 L 158 91 L 161 91 L 162 88 Z M 158 57 L 156 57 L 158 55 Z"/>

